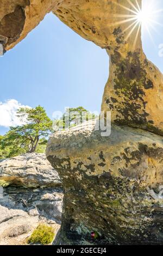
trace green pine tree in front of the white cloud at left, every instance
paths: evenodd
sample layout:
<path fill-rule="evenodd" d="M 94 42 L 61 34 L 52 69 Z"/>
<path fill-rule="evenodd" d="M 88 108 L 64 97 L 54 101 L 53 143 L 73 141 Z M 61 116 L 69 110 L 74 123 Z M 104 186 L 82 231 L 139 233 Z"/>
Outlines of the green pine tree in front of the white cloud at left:
<path fill-rule="evenodd" d="M 44 153 L 47 137 L 52 132 L 52 120 L 45 109 L 20 108 L 17 117 L 24 125 L 10 127 L 5 136 L 0 137 L 0 158 L 12 157 L 24 153 Z"/>

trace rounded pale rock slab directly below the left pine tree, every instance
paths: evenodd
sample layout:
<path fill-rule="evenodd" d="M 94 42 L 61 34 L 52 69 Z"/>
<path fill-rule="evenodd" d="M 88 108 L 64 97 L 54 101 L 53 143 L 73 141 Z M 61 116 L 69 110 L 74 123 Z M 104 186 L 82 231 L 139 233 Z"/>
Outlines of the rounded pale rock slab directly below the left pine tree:
<path fill-rule="evenodd" d="M 58 173 L 45 154 L 24 154 L 0 162 L 0 182 L 23 187 L 61 186 Z"/>

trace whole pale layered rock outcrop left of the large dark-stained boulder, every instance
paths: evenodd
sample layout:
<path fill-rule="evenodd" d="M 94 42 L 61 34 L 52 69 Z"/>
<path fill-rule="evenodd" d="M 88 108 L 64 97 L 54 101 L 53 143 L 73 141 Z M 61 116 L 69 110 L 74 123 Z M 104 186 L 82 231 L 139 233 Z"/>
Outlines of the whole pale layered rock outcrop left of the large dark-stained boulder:
<path fill-rule="evenodd" d="M 25 154 L 0 163 L 0 245 L 26 244 L 40 222 L 55 228 L 62 214 L 62 188 L 45 154 Z"/>

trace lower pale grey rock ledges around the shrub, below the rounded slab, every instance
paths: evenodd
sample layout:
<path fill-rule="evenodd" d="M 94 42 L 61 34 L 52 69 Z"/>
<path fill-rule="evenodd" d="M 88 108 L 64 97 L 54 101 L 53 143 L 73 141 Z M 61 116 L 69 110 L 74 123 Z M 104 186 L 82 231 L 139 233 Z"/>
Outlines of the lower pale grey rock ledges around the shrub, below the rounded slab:
<path fill-rule="evenodd" d="M 40 222 L 57 234 L 62 213 L 62 190 L 3 188 L 0 199 L 0 245 L 22 245 Z"/>

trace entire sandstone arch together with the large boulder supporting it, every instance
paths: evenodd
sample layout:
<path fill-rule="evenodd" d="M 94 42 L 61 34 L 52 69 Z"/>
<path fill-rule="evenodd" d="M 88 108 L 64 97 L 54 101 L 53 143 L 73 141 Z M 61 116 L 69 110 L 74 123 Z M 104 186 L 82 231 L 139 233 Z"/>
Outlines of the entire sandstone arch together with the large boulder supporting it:
<path fill-rule="evenodd" d="M 48 143 L 48 160 L 66 191 L 62 243 L 89 242 L 93 229 L 99 243 L 162 243 L 163 76 L 143 53 L 136 17 L 130 19 L 137 3 L 141 7 L 141 0 L 2 0 L 4 51 L 53 11 L 110 57 L 101 109 L 111 111 L 111 136 L 87 124 L 55 133 Z"/>

